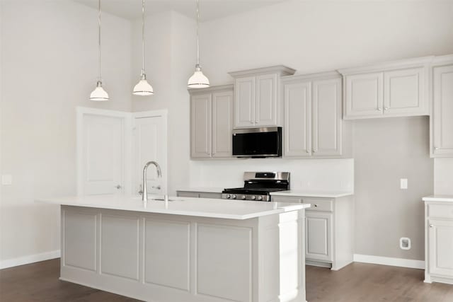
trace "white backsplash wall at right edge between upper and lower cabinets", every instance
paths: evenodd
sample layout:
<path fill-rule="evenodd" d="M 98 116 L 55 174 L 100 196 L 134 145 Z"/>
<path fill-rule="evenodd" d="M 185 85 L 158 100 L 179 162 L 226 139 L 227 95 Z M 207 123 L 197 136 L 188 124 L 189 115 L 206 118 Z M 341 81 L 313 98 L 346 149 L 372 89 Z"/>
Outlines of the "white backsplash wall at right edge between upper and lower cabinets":
<path fill-rule="evenodd" d="M 435 158 L 434 194 L 453 194 L 453 158 Z"/>

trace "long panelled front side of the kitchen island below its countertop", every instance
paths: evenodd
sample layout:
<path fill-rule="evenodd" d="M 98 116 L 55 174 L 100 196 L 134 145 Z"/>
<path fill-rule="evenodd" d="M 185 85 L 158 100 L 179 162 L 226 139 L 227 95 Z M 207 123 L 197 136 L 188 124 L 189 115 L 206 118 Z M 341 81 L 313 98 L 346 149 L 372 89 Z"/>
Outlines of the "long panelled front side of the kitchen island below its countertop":
<path fill-rule="evenodd" d="M 257 234 L 258 219 L 62 206 L 61 279 L 146 301 L 258 302 Z"/>

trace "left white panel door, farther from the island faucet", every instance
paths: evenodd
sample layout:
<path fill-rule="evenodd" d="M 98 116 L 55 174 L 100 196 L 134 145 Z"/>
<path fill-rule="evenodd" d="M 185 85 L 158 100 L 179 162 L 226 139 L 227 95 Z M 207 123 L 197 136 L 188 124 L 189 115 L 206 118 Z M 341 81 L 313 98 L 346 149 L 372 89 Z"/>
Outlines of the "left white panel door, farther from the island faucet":
<path fill-rule="evenodd" d="M 124 119 L 83 115 L 82 164 L 86 195 L 123 191 Z"/>

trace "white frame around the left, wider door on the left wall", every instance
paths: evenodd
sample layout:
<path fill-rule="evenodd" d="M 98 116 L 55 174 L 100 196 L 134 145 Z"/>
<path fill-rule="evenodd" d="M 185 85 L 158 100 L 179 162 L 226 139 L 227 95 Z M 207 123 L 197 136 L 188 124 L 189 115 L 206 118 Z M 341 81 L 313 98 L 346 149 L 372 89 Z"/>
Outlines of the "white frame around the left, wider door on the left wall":
<path fill-rule="evenodd" d="M 76 107 L 76 187 L 77 196 L 84 196 L 84 117 L 86 115 L 96 115 L 99 117 L 118 117 L 122 120 L 122 146 L 123 162 L 122 162 L 122 179 L 123 179 L 123 194 L 130 194 L 130 178 L 132 176 L 130 162 L 132 158 L 131 146 L 132 134 L 131 129 L 131 114 L 130 112 L 122 112 L 117 110 L 105 110 L 87 107 Z"/>

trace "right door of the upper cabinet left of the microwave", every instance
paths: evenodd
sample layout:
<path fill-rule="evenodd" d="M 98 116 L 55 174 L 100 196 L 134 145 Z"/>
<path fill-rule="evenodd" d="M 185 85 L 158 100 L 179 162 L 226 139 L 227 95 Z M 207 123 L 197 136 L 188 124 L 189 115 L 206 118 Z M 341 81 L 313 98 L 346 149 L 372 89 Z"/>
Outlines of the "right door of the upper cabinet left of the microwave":
<path fill-rule="evenodd" d="M 233 92 L 212 94 L 212 157 L 231 157 Z"/>

